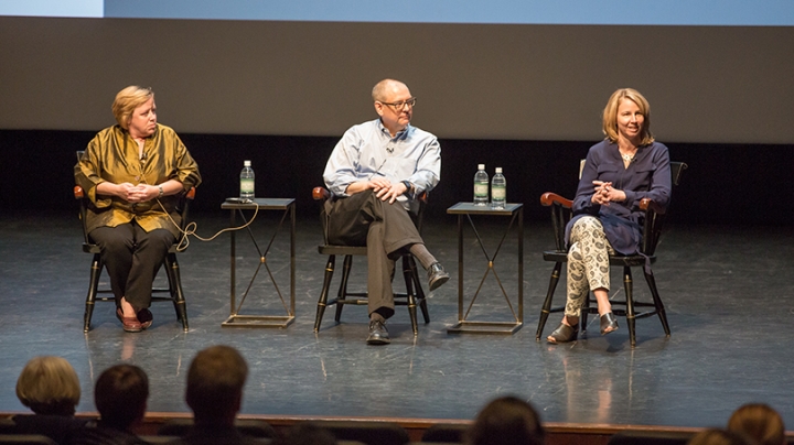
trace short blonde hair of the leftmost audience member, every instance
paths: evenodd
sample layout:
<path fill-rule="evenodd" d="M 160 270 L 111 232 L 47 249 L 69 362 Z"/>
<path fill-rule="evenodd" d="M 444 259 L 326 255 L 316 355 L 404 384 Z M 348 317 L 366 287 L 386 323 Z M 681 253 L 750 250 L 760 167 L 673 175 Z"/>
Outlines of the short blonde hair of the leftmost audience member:
<path fill-rule="evenodd" d="M 17 380 L 17 397 L 36 414 L 74 414 L 81 397 L 77 372 L 64 358 L 34 357 Z"/>

